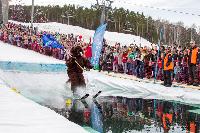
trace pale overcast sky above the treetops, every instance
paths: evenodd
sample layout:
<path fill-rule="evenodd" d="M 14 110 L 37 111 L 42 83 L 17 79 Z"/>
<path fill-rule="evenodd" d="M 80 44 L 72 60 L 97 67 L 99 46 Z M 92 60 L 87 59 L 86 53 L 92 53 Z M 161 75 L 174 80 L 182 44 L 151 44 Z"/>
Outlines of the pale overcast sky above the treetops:
<path fill-rule="evenodd" d="M 32 0 L 12 0 L 11 4 L 31 5 Z M 90 7 L 95 4 L 96 0 L 35 0 L 36 5 L 64 5 L 76 4 Z M 142 6 L 140 6 L 142 5 Z M 145 6 L 153 6 L 155 8 L 164 8 L 176 10 L 179 12 L 190 13 L 180 14 L 169 11 L 147 8 Z M 145 16 L 151 16 L 154 19 L 166 19 L 176 23 L 178 21 L 190 27 L 192 24 L 200 26 L 200 0 L 114 0 L 113 7 L 124 7 L 133 11 L 144 12 Z M 195 14 L 195 15 L 191 15 Z"/>

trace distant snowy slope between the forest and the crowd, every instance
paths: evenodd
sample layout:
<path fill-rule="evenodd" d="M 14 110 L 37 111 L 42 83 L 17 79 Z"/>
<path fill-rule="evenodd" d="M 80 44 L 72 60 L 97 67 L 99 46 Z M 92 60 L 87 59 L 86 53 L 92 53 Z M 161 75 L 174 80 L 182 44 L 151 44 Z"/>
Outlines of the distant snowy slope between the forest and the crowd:
<path fill-rule="evenodd" d="M 22 25 L 30 25 L 29 23 L 20 23 L 16 21 L 10 21 L 17 24 Z M 38 27 L 39 30 L 42 31 L 51 31 L 51 32 L 59 32 L 64 34 L 75 34 L 75 35 L 82 35 L 83 39 L 86 42 L 89 42 L 90 37 L 93 38 L 94 32 L 93 30 L 88 30 L 81 28 L 79 26 L 72 26 L 72 25 L 66 25 L 56 22 L 50 22 L 50 23 L 34 23 L 35 27 Z M 136 44 L 138 46 L 148 46 L 151 47 L 151 43 L 147 41 L 146 39 L 131 35 L 131 34 L 124 34 L 124 33 L 117 33 L 117 32 L 108 32 L 106 31 L 104 35 L 105 39 L 110 45 L 115 45 L 116 42 L 121 43 L 121 45 L 127 45 L 130 44 Z"/>

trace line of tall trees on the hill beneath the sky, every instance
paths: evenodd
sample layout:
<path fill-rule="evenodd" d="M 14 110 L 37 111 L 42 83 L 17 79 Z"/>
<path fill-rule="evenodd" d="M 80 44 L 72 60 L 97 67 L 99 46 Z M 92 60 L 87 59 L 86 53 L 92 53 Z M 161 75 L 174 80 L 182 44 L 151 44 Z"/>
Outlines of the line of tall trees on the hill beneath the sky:
<path fill-rule="evenodd" d="M 95 30 L 100 24 L 101 8 L 85 8 L 75 5 L 35 6 L 34 22 L 58 22 Z M 10 5 L 9 19 L 30 22 L 31 6 Z M 154 20 L 123 8 L 111 8 L 106 12 L 107 30 L 141 36 L 152 43 L 159 39 L 159 29 L 163 27 L 163 45 L 187 46 L 191 38 L 200 44 L 200 34 L 196 25 L 185 27 L 183 22 L 172 24 L 166 20 Z"/>

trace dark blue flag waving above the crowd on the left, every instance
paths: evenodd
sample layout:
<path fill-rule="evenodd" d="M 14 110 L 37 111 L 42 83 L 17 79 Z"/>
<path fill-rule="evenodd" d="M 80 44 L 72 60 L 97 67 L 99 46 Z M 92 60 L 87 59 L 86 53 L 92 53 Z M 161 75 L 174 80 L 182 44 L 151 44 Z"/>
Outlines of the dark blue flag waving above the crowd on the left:
<path fill-rule="evenodd" d="M 54 36 L 50 34 L 44 34 L 42 36 L 43 47 L 51 47 L 51 48 L 64 48 Z"/>

